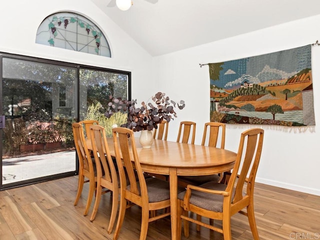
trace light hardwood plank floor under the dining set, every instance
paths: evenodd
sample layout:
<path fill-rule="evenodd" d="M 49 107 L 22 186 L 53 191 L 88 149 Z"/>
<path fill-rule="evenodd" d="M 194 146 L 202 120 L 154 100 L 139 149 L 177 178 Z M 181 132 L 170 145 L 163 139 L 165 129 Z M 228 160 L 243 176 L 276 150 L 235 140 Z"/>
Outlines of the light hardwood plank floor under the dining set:
<path fill-rule="evenodd" d="M 87 185 L 87 184 L 85 184 Z M 73 206 L 77 176 L 0 191 L 0 239 L 112 239 L 106 232 L 111 210 L 110 194 L 102 195 L 96 218 L 83 216 L 87 187 Z M 256 183 L 255 217 L 261 240 L 320 239 L 320 196 Z M 141 211 L 126 211 L 119 240 L 138 239 Z M 218 221 L 214 224 L 219 225 Z M 247 218 L 231 218 L 233 240 L 251 240 Z M 113 229 L 114 231 L 114 229 Z M 170 218 L 149 224 L 147 239 L 170 239 Z M 303 238 L 304 237 L 304 238 Z M 222 240 L 218 232 L 190 224 L 190 236 L 181 239 Z"/>

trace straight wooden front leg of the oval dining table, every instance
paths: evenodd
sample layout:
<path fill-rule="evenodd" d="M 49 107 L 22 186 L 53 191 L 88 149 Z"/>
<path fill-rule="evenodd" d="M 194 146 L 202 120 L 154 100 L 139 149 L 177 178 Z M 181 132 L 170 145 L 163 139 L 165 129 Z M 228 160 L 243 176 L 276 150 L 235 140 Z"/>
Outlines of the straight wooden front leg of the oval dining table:
<path fill-rule="evenodd" d="M 170 182 L 170 206 L 171 206 L 171 239 L 176 240 L 177 235 L 177 175 L 176 169 L 169 170 L 169 182 Z"/>

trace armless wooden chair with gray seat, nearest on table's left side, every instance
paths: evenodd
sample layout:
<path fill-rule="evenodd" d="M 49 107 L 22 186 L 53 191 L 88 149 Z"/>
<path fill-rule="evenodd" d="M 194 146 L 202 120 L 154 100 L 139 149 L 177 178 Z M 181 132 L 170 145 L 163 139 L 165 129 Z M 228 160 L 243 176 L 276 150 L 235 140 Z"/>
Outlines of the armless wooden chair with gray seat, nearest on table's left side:
<path fill-rule="evenodd" d="M 126 201 L 130 201 L 142 208 L 139 238 L 142 240 L 146 238 L 149 222 L 170 215 L 170 212 L 167 211 L 158 215 L 150 214 L 150 211 L 154 212 L 154 210 L 164 209 L 170 206 L 169 183 L 156 177 L 144 178 L 132 130 L 125 127 L 116 127 L 112 129 L 112 134 L 121 189 L 119 216 L 113 239 L 116 240 L 119 235 L 124 220 Z M 126 169 L 126 173 L 124 168 Z M 135 180 L 135 170 L 138 175 L 138 181 Z M 126 174 L 130 182 L 130 185 L 128 186 L 126 185 Z M 179 188 L 178 192 L 181 192 L 182 190 L 183 189 Z"/>

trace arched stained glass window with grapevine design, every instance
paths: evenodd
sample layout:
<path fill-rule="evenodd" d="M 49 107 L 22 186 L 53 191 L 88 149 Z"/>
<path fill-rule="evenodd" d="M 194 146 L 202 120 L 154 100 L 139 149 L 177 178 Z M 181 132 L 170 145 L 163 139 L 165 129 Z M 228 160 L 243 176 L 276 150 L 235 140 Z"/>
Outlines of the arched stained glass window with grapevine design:
<path fill-rule="evenodd" d="M 111 57 L 102 31 L 86 17 L 73 12 L 47 16 L 38 27 L 35 42 Z"/>

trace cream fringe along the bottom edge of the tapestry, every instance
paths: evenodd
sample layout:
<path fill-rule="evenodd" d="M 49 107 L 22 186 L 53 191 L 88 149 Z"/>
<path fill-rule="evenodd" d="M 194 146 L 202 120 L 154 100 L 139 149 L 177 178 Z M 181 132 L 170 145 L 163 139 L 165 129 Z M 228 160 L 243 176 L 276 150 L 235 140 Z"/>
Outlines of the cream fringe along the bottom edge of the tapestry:
<path fill-rule="evenodd" d="M 259 125 L 259 124 L 225 124 L 226 128 L 253 128 L 260 127 L 263 129 L 280 130 L 285 132 L 315 132 L 315 126 L 279 126 L 279 125 Z"/>

